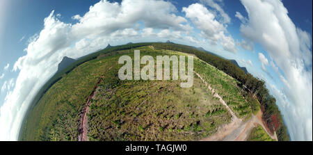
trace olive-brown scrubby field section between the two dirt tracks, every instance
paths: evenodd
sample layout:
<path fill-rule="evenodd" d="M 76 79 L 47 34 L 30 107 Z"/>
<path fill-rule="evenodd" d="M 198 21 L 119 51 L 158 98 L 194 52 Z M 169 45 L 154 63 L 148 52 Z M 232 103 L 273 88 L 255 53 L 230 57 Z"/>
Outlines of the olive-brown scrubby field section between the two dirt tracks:
<path fill-rule="evenodd" d="M 89 140 L 198 140 L 230 122 L 230 113 L 200 79 L 180 88 L 180 81 L 119 81 L 116 74 L 106 74 L 97 90 Z"/>

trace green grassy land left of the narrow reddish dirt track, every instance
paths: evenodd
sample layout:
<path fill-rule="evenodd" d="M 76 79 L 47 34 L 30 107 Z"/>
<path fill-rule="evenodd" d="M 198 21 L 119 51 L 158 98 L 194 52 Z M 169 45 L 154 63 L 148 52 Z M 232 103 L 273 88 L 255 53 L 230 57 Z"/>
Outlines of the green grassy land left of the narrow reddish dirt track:
<path fill-rule="evenodd" d="M 79 112 L 99 76 L 110 65 L 109 61 L 100 62 L 84 63 L 52 85 L 29 114 L 22 140 L 49 140 L 55 124 L 64 127 L 62 140 L 77 140 Z"/>

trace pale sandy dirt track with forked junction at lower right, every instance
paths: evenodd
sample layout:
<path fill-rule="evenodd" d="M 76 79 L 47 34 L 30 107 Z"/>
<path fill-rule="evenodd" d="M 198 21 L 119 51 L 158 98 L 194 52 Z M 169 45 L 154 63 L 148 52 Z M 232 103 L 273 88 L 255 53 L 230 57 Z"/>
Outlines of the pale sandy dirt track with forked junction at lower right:
<path fill-rule="evenodd" d="M 207 83 L 207 81 L 204 81 L 200 74 L 195 72 L 195 74 L 201 79 L 201 81 L 211 90 L 211 93 L 213 94 L 215 91 L 211 86 Z M 225 101 L 218 95 L 217 93 L 214 94 L 214 97 L 218 97 L 220 99 L 220 103 L 223 104 L 226 108 L 227 111 L 230 112 L 232 115 L 232 121 L 229 124 L 225 124 L 222 127 L 218 128 L 218 131 L 214 133 L 214 135 L 209 136 L 207 138 L 202 139 L 202 141 L 243 141 L 247 140 L 250 131 L 254 128 L 257 127 L 257 124 L 260 124 L 264 131 L 268 134 L 268 136 L 271 136 L 272 139 L 278 140 L 276 133 L 271 135 L 268 133 L 266 127 L 264 126 L 262 122 L 262 112 L 259 111 L 257 115 L 252 115 L 251 119 L 248 120 L 247 122 L 242 122 L 241 119 L 236 117 L 235 113 L 230 109 L 229 106 L 225 103 Z"/>

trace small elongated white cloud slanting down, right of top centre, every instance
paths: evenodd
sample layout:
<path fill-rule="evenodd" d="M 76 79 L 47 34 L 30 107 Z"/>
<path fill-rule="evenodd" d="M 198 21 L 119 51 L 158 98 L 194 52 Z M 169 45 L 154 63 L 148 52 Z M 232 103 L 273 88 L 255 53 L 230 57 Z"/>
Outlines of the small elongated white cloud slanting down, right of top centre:
<path fill-rule="evenodd" d="M 202 35 L 209 40 L 210 44 L 220 44 L 223 49 L 236 53 L 236 45 L 231 35 L 225 35 L 227 28 L 216 20 L 216 17 L 207 8 L 200 3 L 194 3 L 184 7 L 183 12 L 186 13 L 186 17 L 191 19 L 193 24 L 200 29 Z"/>

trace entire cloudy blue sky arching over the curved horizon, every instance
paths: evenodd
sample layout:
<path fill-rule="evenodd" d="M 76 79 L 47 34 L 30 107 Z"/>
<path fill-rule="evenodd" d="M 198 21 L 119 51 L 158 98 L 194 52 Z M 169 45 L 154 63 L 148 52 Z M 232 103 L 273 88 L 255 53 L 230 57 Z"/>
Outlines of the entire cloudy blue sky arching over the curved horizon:
<path fill-rule="evenodd" d="M 63 56 L 78 58 L 108 43 L 171 40 L 235 59 L 264 79 L 278 101 L 291 140 L 312 140 L 312 1 L 136 4 L 141 13 L 149 14 L 145 9 L 150 7 L 151 17 L 124 15 L 121 10 L 136 10 L 130 8 L 134 3 L 114 2 L 0 2 L 0 124 L 10 135 L 1 139 L 15 140 L 31 97 L 56 72 Z"/>

